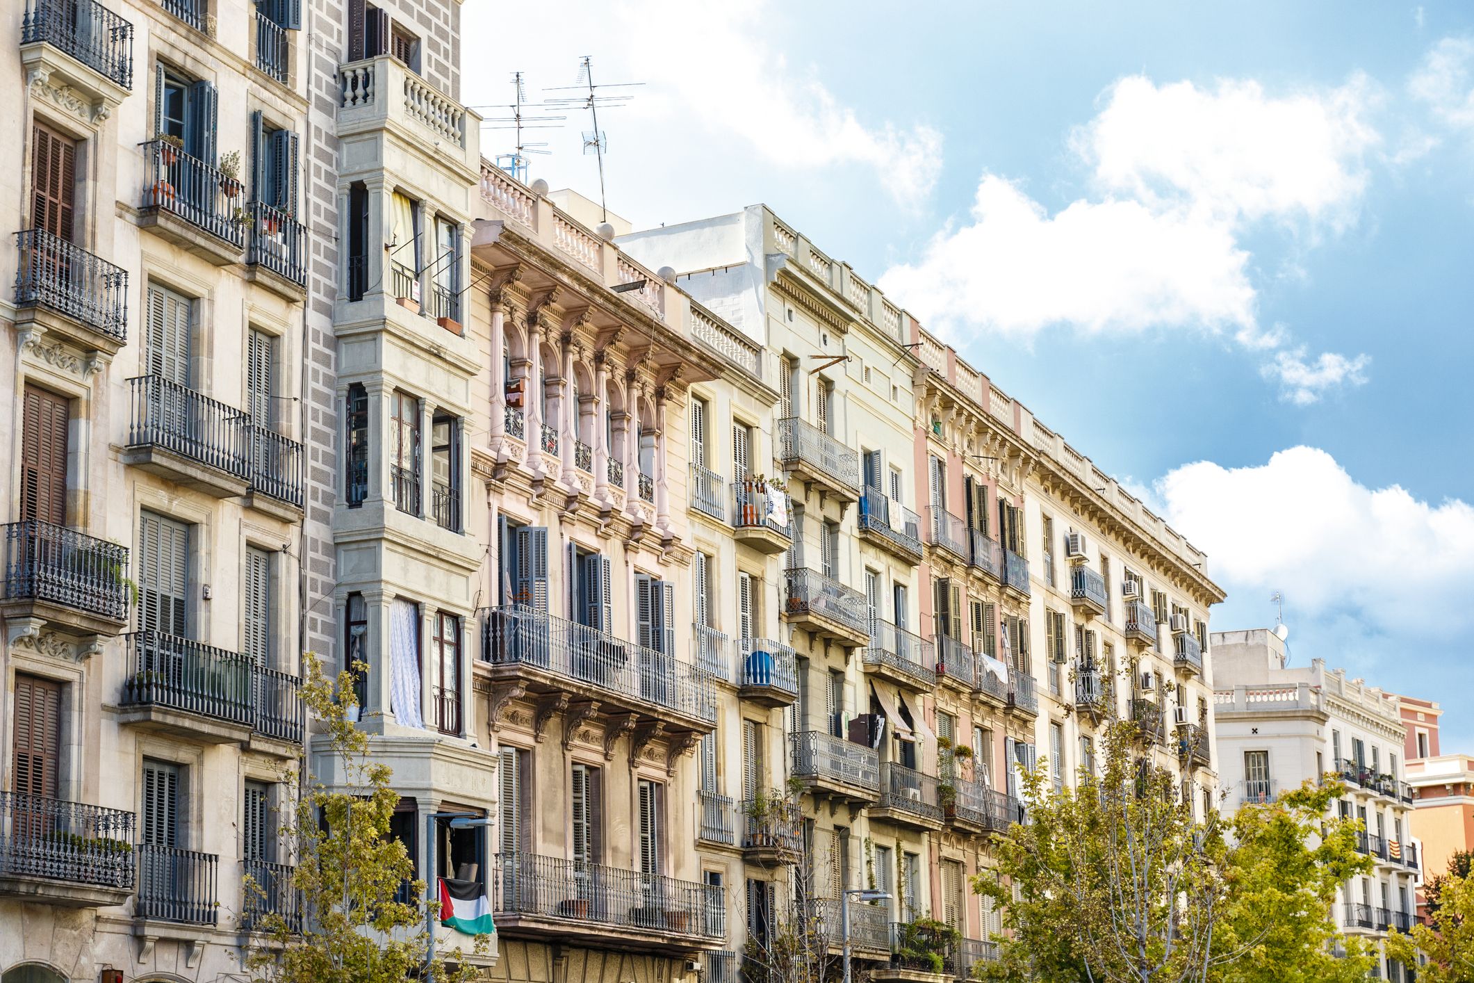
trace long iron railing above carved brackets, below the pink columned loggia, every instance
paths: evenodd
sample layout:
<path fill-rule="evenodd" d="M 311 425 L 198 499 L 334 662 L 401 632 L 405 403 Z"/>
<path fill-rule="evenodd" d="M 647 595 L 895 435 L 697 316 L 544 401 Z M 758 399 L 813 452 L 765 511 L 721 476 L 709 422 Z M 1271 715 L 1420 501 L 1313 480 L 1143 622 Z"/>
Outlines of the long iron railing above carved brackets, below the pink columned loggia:
<path fill-rule="evenodd" d="M 700 721 L 716 719 L 705 672 L 672 654 L 523 604 L 482 610 L 482 656 L 590 682 Z"/>

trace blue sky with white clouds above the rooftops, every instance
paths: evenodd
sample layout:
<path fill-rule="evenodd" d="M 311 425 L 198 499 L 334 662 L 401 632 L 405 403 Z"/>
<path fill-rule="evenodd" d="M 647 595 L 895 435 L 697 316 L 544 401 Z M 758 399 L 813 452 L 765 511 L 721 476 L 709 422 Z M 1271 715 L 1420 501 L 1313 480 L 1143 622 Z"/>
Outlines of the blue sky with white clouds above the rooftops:
<path fill-rule="evenodd" d="M 1207 550 L 1215 628 L 1282 591 L 1474 753 L 1474 7 L 1107 6 L 478 0 L 463 99 L 643 83 L 612 211 L 768 203 Z M 597 195 L 588 128 L 532 175 Z"/>

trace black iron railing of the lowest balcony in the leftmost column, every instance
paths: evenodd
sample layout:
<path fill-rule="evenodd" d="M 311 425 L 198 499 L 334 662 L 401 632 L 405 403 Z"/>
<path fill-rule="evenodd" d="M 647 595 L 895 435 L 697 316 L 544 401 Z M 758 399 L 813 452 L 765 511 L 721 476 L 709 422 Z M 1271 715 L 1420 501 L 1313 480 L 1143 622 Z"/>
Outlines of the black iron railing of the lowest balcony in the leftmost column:
<path fill-rule="evenodd" d="M 0 791 L 0 874 L 133 887 L 131 812 Z"/>

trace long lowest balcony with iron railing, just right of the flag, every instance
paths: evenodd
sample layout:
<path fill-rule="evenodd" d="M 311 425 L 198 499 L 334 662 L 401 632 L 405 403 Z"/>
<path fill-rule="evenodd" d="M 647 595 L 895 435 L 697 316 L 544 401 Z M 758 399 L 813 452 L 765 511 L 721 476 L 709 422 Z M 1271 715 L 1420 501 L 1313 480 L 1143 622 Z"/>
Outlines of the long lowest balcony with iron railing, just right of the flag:
<path fill-rule="evenodd" d="M 497 933 L 647 951 L 716 949 L 721 889 L 535 853 L 497 856 Z"/>

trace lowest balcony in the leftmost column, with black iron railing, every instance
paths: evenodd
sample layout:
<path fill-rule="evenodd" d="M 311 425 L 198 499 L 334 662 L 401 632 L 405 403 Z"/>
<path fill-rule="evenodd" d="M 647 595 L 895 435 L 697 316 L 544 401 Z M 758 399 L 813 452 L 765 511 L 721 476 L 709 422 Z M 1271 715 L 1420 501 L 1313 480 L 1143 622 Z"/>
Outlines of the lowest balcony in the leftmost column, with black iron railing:
<path fill-rule="evenodd" d="M 133 814 L 121 809 L 0 791 L 0 898 L 124 903 L 133 893 Z"/>

